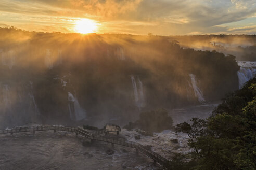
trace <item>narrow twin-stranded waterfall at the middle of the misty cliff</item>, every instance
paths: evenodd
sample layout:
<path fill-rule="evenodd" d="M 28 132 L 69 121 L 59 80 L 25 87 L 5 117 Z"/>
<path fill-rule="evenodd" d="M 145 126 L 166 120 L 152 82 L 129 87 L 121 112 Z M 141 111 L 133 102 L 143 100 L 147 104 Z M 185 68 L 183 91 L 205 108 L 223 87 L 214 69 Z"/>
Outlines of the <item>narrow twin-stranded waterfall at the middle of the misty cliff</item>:
<path fill-rule="evenodd" d="M 132 75 L 132 84 L 133 84 L 133 91 L 134 91 L 134 100 L 135 100 L 135 105 L 138 108 L 142 108 L 145 105 L 144 101 L 144 92 L 143 92 L 143 83 L 140 81 L 139 78 L 137 78 L 138 86 L 135 77 Z"/>

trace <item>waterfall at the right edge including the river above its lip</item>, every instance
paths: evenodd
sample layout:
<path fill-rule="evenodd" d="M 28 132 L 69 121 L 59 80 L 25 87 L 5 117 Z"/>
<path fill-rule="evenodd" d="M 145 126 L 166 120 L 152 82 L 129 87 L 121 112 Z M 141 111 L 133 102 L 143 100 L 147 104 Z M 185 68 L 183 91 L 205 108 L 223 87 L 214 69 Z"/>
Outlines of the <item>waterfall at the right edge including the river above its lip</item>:
<path fill-rule="evenodd" d="M 238 62 L 240 70 L 237 72 L 239 89 L 256 75 L 256 62 Z"/>

